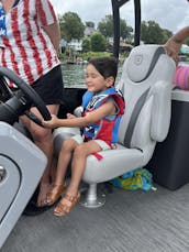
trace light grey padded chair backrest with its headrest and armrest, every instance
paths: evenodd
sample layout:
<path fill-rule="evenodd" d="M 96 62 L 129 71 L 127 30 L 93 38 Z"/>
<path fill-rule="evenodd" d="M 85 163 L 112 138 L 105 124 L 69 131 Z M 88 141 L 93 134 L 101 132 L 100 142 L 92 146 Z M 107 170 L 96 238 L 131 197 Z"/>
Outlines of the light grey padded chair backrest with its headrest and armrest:
<path fill-rule="evenodd" d="M 166 138 L 175 68 L 163 46 L 140 45 L 132 50 L 118 85 L 126 103 L 120 125 L 120 143 L 151 155 L 155 143 Z"/>

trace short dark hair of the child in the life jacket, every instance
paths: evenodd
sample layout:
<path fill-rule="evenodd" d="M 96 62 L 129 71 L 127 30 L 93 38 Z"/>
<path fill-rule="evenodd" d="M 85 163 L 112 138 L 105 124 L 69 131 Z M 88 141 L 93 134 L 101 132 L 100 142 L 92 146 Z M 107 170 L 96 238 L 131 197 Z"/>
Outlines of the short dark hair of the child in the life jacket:
<path fill-rule="evenodd" d="M 89 63 L 104 77 L 116 78 L 118 74 L 118 59 L 115 57 L 93 57 Z"/>

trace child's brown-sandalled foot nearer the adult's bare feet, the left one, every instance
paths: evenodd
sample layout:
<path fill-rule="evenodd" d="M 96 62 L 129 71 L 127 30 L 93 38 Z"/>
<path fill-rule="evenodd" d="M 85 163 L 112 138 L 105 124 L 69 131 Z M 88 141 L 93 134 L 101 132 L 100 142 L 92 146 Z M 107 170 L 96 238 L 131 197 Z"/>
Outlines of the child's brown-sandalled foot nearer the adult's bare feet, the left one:
<path fill-rule="evenodd" d="M 46 195 L 46 200 L 45 204 L 47 206 L 53 205 L 62 195 L 62 193 L 65 190 L 66 188 L 66 183 L 63 184 L 53 184 L 49 191 Z"/>

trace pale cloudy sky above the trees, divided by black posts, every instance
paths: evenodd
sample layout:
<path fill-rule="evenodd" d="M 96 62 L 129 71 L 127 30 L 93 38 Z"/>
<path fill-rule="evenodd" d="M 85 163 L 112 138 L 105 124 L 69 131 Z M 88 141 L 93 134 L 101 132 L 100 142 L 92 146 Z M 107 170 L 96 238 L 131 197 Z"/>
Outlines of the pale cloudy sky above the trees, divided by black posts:
<path fill-rule="evenodd" d="M 49 0 L 58 14 L 76 12 L 82 23 L 92 21 L 96 24 L 105 15 L 112 14 L 111 0 Z M 121 19 L 134 28 L 134 0 L 120 9 Z M 173 33 L 189 25 L 189 2 L 187 0 L 141 0 L 142 21 L 154 20 L 162 29 Z"/>

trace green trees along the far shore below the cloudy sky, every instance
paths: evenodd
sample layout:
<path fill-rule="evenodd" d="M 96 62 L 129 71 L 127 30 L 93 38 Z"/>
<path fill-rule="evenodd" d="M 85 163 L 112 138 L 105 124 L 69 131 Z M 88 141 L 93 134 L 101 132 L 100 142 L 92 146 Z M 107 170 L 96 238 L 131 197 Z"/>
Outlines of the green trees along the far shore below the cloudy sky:
<path fill-rule="evenodd" d="M 98 24 L 96 32 L 91 36 L 85 37 L 85 29 L 94 29 L 91 21 L 82 23 L 80 17 L 75 12 L 67 12 L 58 15 L 62 39 L 66 42 L 71 40 L 82 40 L 84 52 L 104 52 L 108 46 L 108 40 L 113 37 L 113 17 L 105 15 Z M 125 43 L 133 43 L 133 28 L 126 24 L 126 21 L 120 20 L 120 34 Z M 164 44 L 173 35 L 171 31 L 163 29 L 155 21 L 142 21 L 141 41 L 144 44 Z M 186 41 L 189 45 L 189 40 Z"/>

